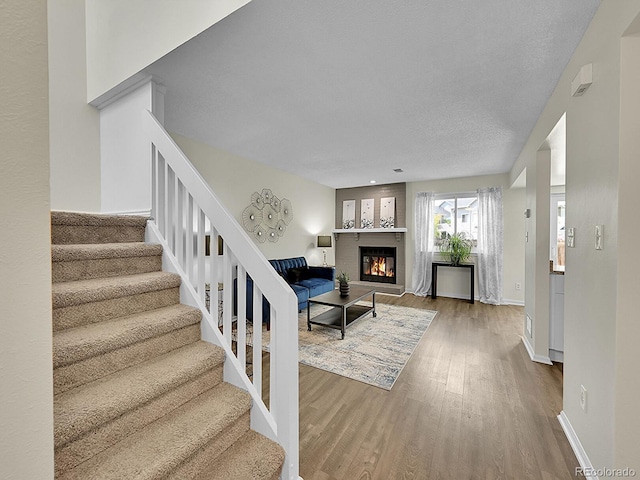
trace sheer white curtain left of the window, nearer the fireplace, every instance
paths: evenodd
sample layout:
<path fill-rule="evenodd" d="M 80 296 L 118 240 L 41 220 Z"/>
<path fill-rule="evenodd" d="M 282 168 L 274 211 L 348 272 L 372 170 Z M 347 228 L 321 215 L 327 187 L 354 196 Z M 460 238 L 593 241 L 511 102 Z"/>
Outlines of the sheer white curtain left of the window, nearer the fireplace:
<path fill-rule="evenodd" d="M 433 193 L 420 192 L 415 206 L 415 260 L 413 262 L 413 290 L 426 297 L 431 290 L 431 263 L 433 262 Z"/>

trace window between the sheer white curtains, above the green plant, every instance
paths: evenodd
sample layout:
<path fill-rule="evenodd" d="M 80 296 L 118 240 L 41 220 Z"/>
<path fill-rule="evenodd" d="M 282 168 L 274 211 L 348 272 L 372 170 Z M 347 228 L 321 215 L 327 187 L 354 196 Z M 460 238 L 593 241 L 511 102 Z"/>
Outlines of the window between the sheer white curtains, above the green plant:
<path fill-rule="evenodd" d="M 478 195 L 476 193 L 436 195 L 433 203 L 435 244 L 455 233 L 478 240 Z"/>

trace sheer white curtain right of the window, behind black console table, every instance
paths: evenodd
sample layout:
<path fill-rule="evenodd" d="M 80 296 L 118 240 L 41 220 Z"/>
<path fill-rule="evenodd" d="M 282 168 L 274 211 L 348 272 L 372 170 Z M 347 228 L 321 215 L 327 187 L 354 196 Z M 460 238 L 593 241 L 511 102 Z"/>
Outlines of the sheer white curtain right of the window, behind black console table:
<path fill-rule="evenodd" d="M 502 303 L 502 188 L 478 190 L 478 294 L 482 303 Z"/>

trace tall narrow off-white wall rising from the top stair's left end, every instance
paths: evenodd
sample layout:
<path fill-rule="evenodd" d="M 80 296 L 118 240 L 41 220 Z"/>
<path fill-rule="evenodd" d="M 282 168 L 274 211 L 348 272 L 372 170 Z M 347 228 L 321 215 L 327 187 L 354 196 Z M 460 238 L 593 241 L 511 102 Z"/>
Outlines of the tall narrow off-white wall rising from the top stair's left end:
<path fill-rule="evenodd" d="M 47 2 L 51 208 L 100 211 L 100 119 L 87 105 L 84 0 Z"/>

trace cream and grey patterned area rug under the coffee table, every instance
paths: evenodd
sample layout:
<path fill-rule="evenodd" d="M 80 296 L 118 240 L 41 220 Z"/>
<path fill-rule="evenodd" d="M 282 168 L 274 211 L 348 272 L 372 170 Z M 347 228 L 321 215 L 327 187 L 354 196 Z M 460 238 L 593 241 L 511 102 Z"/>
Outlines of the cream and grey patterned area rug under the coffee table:
<path fill-rule="evenodd" d="M 329 307 L 311 306 L 311 317 Z M 416 345 L 438 312 L 417 308 L 376 304 L 371 313 L 340 330 L 312 325 L 307 331 L 307 311 L 298 316 L 298 360 L 300 363 L 360 382 L 391 390 Z M 263 333 L 263 349 L 268 351 L 269 332 Z"/>

